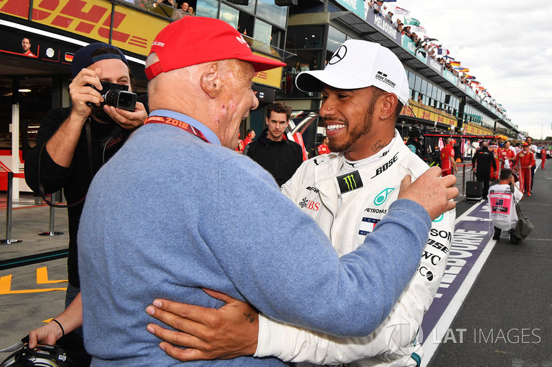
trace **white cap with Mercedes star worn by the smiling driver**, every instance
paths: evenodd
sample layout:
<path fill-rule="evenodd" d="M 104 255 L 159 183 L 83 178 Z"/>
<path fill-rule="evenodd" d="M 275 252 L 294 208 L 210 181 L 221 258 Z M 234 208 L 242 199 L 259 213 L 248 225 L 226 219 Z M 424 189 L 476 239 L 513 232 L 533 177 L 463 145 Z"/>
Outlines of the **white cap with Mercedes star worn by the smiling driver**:
<path fill-rule="evenodd" d="M 324 84 L 341 90 L 378 87 L 394 93 L 408 104 L 406 70 L 391 50 L 379 43 L 349 39 L 345 41 L 324 70 L 301 72 L 295 84 L 304 92 L 320 92 Z"/>

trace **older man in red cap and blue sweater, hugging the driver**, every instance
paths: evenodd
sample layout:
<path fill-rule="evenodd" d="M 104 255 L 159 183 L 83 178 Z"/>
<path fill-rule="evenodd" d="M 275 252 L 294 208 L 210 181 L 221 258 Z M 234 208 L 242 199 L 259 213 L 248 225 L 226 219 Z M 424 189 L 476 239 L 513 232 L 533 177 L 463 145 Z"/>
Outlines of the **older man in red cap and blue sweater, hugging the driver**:
<path fill-rule="evenodd" d="M 189 42 L 199 34 L 201 42 Z M 200 287 L 335 335 L 366 335 L 391 311 L 416 270 L 431 220 L 453 207 L 457 190 L 437 171 L 410 185 L 405 178 L 366 245 L 339 259 L 270 174 L 233 151 L 239 123 L 258 105 L 254 72 L 282 65 L 254 55 L 217 19 L 186 17 L 155 39 L 146 62 L 150 117 L 95 177 L 79 227 L 83 328 L 95 366 L 174 365 L 153 329 L 146 331 L 151 319 L 143 311 L 164 298 L 224 304 Z M 247 200 L 250 215 L 236 215 Z M 278 225 L 266 226 L 273 218 Z M 262 231 L 244 240 L 243 228 Z M 399 241 L 402 251 L 386 262 Z M 335 302 L 326 302 L 328 295 Z M 245 316 L 258 323 L 256 313 Z M 253 354 L 255 345 L 246 349 Z"/>

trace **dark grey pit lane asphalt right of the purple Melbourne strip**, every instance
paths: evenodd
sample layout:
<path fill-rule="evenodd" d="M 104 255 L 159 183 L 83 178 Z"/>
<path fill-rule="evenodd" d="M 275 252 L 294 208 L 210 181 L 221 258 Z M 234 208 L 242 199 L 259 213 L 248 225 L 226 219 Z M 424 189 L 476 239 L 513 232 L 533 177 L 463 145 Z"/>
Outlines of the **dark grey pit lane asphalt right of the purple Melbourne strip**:
<path fill-rule="evenodd" d="M 517 245 L 502 235 L 427 366 L 552 366 L 552 164 L 538 167 L 520 203 L 535 230 Z"/>

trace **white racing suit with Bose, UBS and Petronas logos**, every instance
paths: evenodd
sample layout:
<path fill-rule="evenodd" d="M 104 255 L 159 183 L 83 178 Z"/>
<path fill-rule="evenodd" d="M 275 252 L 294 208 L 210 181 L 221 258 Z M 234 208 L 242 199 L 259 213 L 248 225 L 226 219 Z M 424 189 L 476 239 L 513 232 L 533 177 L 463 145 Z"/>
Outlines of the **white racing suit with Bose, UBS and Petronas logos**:
<path fill-rule="evenodd" d="M 391 202 L 397 199 L 400 182 L 406 174 L 414 180 L 428 169 L 404 145 L 396 130 L 391 144 L 369 162 L 357 170 L 354 166 L 348 167 L 350 172 L 340 175 L 344 165 L 342 154 L 317 156 L 304 162 L 282 186 L 282 192 L 316 220 L 339 256 L 359 247 L 365 235 L 373 231 Z M 255 356 L 274 355 L 284 361 L 346 367 L 419 365 L 422 347 L 417 342 L 417 334 L 441 282 L 454 224 L 455 210 L 433 221 L 417 272 L 390 315 L 382 319 L 371 335 L 334 337 L 259 315 Z M 397 251 L 401 251 L 400 243 Z M 305 271 L 308 273 L 308 269 Z"/>

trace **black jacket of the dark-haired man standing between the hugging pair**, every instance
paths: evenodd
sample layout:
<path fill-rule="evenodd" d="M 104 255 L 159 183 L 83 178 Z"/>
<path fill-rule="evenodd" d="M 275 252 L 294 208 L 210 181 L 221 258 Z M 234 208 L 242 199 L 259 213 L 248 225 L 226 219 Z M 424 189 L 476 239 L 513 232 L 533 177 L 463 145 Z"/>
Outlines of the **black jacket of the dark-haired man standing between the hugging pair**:
<path fill-rule="evenodd" d="M 270 140 L 268 129 L 247 145 L 244 154 L 270 172 L 278 186 L 284 185 L 303 162 L 301 145 L 287 140 L 286 134 L 282 141 Z"/>

